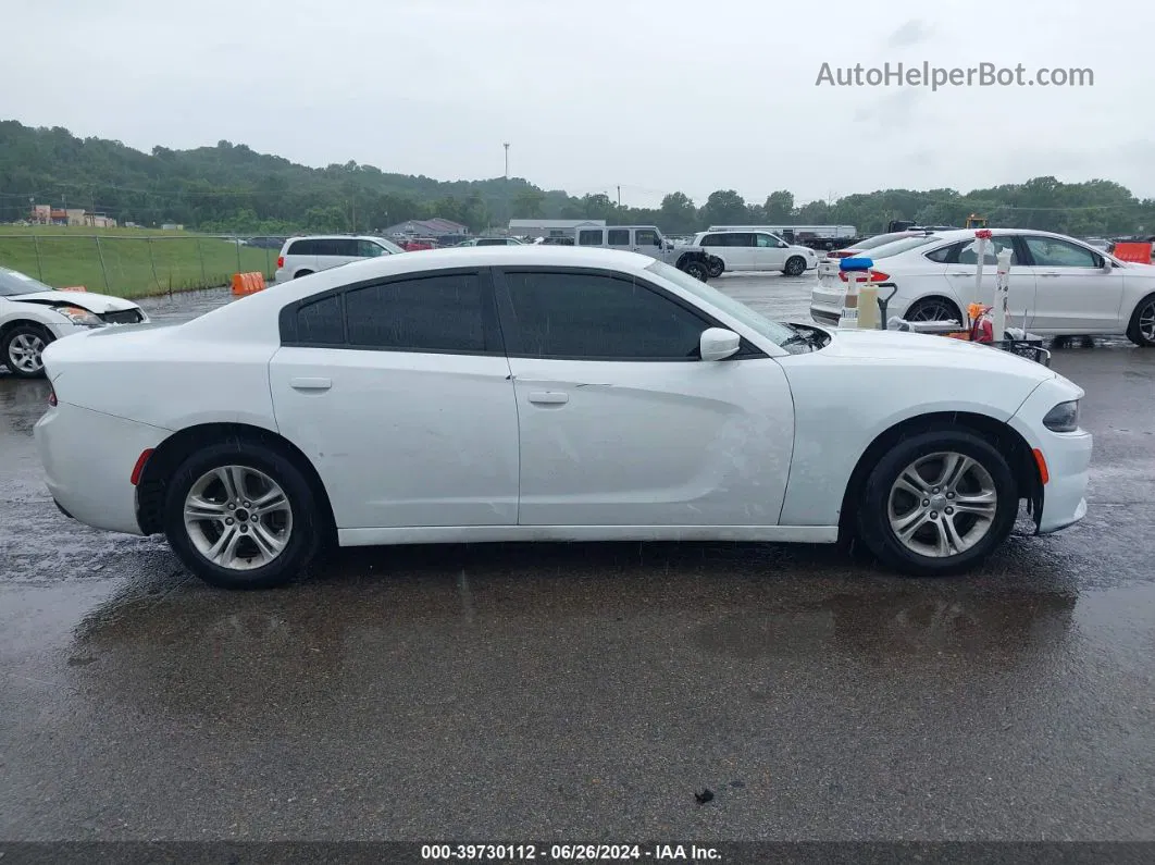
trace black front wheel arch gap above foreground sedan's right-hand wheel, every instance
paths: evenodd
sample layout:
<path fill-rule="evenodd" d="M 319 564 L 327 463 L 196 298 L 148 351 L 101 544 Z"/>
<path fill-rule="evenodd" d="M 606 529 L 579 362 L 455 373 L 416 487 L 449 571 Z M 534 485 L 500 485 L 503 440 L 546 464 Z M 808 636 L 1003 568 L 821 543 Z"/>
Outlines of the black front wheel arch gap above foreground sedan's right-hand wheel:
<path fill-rule="evenodd" d="M 1019 431 L 989 415 L 971 411 L 938 411 L 900 420 L 879 433 L 862 453 L 850 472 L 850 479 L 842 494 L 842 507 L 839 512 L 839 539 L 844 542 L 854 537 L 857 502 L 862 499 L 871 469 L 887 450 L 903 439 L 919 433 L 959 428 L 982 437 L 1006 456 L 1007 464 L 1011 467 L 1019 487 L 1019 498 L 1024 498 L 1030 502 L 1030 513 L 1037 521 L 1043 512 L 1043 482 L 1030 445 Z"/>

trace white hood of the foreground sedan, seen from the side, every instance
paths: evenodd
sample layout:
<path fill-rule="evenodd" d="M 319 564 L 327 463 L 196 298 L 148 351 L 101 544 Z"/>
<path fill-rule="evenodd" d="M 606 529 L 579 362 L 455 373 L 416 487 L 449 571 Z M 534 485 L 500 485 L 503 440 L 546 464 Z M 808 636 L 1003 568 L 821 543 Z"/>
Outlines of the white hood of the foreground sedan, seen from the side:
<path fill-rule="evenodd" d="M 813 327 L 813 326 L 811 326 Z M 824 355 L 863 360 L 894 360 L 924 364 L 927 367 L 969 367 L 976 372 L 1004 372 L 1036 381 L 1053 379 L 1056 373 L 1042 364 L 991 345 L 954 340 L 948 336 L 911 334 L 903 330 L 827 330 L 830 344 Z M 981 381 L 976 381 L 981 386 Z"/>

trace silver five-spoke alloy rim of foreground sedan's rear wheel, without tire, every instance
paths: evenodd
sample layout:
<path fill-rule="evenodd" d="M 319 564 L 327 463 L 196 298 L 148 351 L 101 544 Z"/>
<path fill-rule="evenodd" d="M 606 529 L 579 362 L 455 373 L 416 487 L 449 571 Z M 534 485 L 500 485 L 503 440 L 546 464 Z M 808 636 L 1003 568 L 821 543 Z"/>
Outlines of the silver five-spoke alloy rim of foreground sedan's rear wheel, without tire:
<path fill-rule="evenodd" d="M 214 565 L 252 571 L 284 552 L 292 535 L 292 506 L 263 471 L 222 465 L 198 478 L 185 497 L 185 531 Z"/>

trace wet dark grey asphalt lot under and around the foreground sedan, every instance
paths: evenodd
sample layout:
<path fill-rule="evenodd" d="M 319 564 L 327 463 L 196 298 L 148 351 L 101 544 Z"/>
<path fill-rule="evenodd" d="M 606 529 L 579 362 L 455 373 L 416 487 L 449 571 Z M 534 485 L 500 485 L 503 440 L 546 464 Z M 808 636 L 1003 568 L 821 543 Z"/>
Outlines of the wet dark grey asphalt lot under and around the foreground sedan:
<path fill-rule="evenodd" d="M 806 279 L 715 284 L 806 320 Z M 967 577 L 474 545 L 248 594 L 65 519 L 47 387 L 0 373 L 0 840 L 1155 840 L 1155 351 L 1053 366 L 1088 516 Z"/>

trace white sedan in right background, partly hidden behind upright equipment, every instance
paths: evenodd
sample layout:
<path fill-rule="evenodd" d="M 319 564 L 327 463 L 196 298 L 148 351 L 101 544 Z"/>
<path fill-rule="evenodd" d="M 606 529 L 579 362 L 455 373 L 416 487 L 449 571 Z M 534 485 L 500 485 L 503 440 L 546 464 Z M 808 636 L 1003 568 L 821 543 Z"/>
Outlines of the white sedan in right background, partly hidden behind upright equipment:
<path fill-rule="evenodd" d="M 1134 264 L 1063 234 L 1028 229 L 993 229 L 986 244 L 981 297 L 975 296 L 977 251 L 974 230 L 902 238 L 863 253 L 874 262 L 871 278 L 893 282 L 887 315 L 910 321 L 961 321 L 970 303 L 994 299 L 1000 249 L 1011 249 L 1007 325 L 1041 336 L 1126 335 L 1155 345 L 1155 267 Z M 811 316 L 837 322 L 845 282 L 836 267 L 822 267 L 811 294 Z"/>

